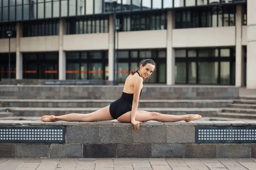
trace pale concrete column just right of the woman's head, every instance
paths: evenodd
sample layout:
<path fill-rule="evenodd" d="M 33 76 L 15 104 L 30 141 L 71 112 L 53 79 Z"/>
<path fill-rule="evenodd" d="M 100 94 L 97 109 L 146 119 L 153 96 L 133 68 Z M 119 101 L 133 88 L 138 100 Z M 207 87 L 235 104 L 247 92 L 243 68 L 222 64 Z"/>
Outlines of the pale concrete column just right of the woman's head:
<path fill-rule="evenodd" d="M 167 58 L 166 58 L 166 82 L 167 85 L 175 85 L 175 50 L 172 48 L 172 29 L 174 28 L 174 12 L 167 12 Z"/>

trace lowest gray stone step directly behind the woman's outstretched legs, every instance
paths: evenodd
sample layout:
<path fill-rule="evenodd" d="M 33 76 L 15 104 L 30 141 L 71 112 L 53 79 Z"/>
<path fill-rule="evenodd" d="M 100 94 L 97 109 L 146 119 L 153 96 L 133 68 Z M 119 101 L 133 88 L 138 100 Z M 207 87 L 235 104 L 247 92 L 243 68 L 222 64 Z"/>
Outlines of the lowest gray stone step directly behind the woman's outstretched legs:
<path fill-rule="evenodd" d="M 69 113 L 91 113 L 100 108 L 19 108 L 10 107 L 10 111 L 15 116 L 44 116 L 44 115 L 64 115 Z M 202 116 L 216 116 L 221 108 L 138 108 L 139 111 L 154 111 L 164 114 L 183 115 L 201 114 Z"/>

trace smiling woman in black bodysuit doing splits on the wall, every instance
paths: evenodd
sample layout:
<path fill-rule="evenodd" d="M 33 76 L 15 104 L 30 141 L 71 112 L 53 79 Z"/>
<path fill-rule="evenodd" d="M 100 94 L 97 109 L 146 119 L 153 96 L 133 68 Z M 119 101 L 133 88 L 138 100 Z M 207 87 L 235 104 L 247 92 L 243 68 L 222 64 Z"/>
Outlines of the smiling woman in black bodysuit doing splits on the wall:
<path fill-rule="evenodd" d="M 186 122 L 190 122 L 192 120 L 201 119 L 201 116 L 198 114 L 168 115 L 157 112 L 137 111 L 141 90 L 143 88 L 143 79 L 147 81 L 154 69 L 155 62 L 152 59 L 143 60 L 137 71 L 131 71 L 126 78 L 122 96 L 105 108 L 88 114 L 70 113 L 62 116 L 42 116 L 40 120 L 93 122 L 117 119 L 119 122 L 130 122 L 134 125 L 135 130 L 139 130 L 140 123 L 149 120 L 159 122 L 177 122 L 185 120 Z"/>

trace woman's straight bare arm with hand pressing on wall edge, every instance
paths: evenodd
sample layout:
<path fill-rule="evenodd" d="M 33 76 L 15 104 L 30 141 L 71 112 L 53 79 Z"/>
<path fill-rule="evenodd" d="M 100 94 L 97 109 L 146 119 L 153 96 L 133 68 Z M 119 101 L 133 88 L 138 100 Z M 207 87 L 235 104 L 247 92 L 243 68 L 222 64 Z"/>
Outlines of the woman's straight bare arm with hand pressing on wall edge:
<path fill-rule="evenodd" d="M 134 81 L 134 98 L 132 101 L 132 108 L 131 108 L 131 123 L 134 125 L 135 130 L 139 130 L 140 122 L 135 120 L 137 108 L 139 105 L 139 98 L 140 98 L 140 91 L 143 86 L 143 79 L 141 77 L 136 77 Z"/>

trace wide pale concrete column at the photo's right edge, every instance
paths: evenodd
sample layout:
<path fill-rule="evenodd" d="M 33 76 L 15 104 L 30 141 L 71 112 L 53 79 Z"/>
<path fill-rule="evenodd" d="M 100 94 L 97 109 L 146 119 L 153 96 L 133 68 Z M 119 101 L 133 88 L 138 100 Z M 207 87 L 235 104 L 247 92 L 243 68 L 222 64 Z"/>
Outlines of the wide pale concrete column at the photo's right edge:
<path fill-rule="evenodd" d="M 248 89 L 256 89 L 256 0 L 247 0 L 247 77 Z"/>

